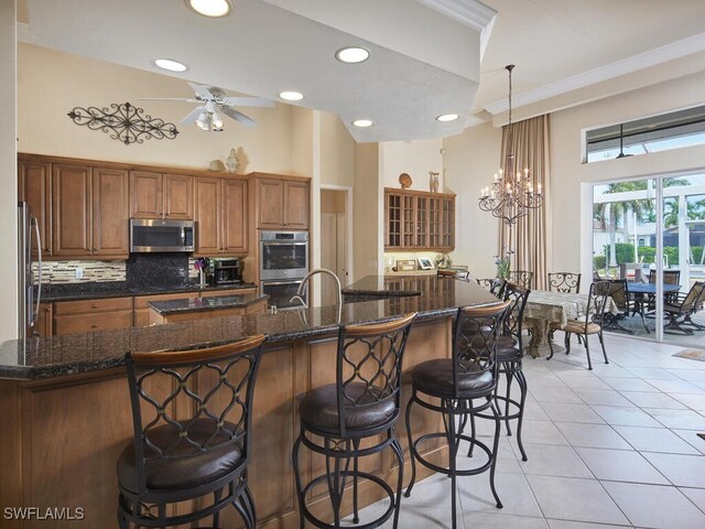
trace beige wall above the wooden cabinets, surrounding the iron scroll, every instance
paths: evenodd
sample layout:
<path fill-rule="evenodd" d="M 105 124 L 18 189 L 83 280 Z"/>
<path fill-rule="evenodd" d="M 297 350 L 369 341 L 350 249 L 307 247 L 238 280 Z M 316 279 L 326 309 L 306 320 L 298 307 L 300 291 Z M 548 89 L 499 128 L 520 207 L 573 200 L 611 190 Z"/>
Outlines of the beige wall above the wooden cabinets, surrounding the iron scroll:
<path fill-rule="evenodd" d="M 239 172 L 290 173 L 292 164 L 291 106 L 247 108 L 257 127 L 226 118 L 223 132 L 204 132 L 178 125 L 194 107 L 181 101 L 140 101 L 140 97 L 191 97 L 186 78 L 119 66 L 48 48 L 20 44 L 18 48 L 19 150 L 118 162 L 206 169 L 242 148 Z M 108 134 L 72 122 L 74 107 L 110 107 L 129 101 L 145 114 L 177 125 L 175 140 L 145 140 L 124 145 Z"/>

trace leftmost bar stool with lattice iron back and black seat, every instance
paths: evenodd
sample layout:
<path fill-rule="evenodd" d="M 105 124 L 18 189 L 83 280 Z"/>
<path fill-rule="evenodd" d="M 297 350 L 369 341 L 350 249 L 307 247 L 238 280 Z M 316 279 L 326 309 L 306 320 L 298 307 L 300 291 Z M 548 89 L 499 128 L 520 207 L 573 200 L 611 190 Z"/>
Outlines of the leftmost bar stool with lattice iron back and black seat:
<path fill-rule="evenodd" d="M 254 529 L 247 467 L 263 341 L 257 335 L 204 349 L 126 355 L 134 439 L 118 460 L 120 528 L 181 526 L 209 516 L 217 528 L 220 510 L 232 505 Z M 167 506 L 188 500 L 192 512 L 166 514 Z"/>

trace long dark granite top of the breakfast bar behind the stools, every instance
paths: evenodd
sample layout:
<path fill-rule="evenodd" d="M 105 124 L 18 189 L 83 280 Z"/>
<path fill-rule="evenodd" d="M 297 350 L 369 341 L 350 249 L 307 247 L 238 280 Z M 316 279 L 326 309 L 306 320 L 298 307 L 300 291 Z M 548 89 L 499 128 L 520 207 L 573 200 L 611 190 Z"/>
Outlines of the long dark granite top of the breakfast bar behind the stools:
<path fill-rule="evenodd" d="M 269 344 L 329 336 L 339 325 L 384 322 L 410 312 L 419 321 L 452 316 L 459 306 L 498 303 L 475 282 L 416 277 L 405 295 L 390 291 L 399 278 L 367 277 L 345 289 L 351 300 L 376 294 L 372 301 L 280 312 L 131 327 L 87 334 L 8 341 L 0 344 L 0 378 L 47 379 L 120 367 L 135 350 L 189 349 L 236 342 L 253 334 Z M 405 281 L 405 280 L 404 280 Z M 416 290 L 413 290 L 414 285 Z"/>

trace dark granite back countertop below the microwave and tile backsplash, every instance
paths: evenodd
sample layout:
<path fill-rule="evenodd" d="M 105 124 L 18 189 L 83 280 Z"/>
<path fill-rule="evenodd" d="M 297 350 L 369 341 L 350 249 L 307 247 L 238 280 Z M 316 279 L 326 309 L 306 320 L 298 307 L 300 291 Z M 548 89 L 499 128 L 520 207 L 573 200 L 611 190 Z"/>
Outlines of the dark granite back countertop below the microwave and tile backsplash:
<path fill-rule="evenodd" d="M 176 294 L 180 292 L 213 292 L 218 290 L 253 289 L 254 283 L 218 284 L 200 288 L 198 283 L 174 287 L 133 287 L 127 281 L 87 281 L 84 283 L 55 283 L 42 285 L 42 302 L 95 300 L 130 295 Z"/>

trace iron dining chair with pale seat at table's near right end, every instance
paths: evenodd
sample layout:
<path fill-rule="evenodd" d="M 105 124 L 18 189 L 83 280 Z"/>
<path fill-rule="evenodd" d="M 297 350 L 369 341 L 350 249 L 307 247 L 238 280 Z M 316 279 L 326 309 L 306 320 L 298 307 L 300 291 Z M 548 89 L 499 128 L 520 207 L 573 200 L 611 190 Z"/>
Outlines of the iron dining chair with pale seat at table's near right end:
<path fill-rule="evenodd" d="M 590 344 L 589 335 L 596 334 L 599 338 L 599 344 L 603 347 L 603 356 L 605 357 L 605 364 L 609 364 L 607 359 L 607 352 L 605 350 L 605 339 L 603 337 L 603 324 L 605 317 L 605 307 L 607 306 L 607 300 L 610 295 L 610 281 L 595 281 L 590 284 L 589 293 L 587 294 L 587 305 L 585 306 L 585 314 L 581 320 L 568 320 L 564 327 L 561 327 L 557 323 L 552 323 L 551 328 L 554 331 L 563 331 L 565 333 L 565 354 L 571 353 L 571 334 L 577 334 L 583 336 L 583 346 L 587 354 L 587 368 L 593 369 L 593 361 L 590 359 Z M 549 341 L 549 347 L 551 354 L 546 358 L 550 360 L 553 358 L 553 344 Z"/>

